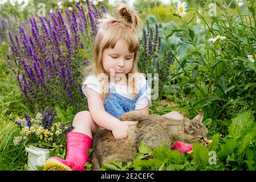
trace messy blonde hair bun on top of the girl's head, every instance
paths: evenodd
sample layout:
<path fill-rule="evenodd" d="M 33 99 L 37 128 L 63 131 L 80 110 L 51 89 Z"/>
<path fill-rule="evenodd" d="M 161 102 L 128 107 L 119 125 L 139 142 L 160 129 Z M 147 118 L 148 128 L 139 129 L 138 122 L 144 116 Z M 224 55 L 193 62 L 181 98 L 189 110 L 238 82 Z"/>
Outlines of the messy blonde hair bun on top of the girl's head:
<path fill-rule="evenodd" d="M 119 5 L 117 13 L 120 16 L 121 20 L 125 20 L 125 22 L 127 22 L 130 25 L 132 30 L 140 28 L 142 23 L 135 10 L 129 8 L 124 3 L 121 3 Z"/>

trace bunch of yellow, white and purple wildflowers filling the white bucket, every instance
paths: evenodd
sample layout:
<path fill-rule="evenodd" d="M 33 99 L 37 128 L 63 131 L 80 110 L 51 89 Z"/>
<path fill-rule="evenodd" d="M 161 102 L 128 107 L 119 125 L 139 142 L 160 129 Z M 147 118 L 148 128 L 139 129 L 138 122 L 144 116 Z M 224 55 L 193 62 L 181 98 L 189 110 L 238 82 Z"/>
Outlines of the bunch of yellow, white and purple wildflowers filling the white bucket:
<path fill-rule="evenodd" d="M 11 119 L 21 128 L 21 136 L 14 138 L 14 145 L 29 144 L 39 148 L 54 148 L 63 143 L 65 135 L 74 127 L 67 123 L 55 122 L 55 111 L 44 110 L 37 113 L 35 118 L 29 118 L 26 113 L 25 118 Z"/>

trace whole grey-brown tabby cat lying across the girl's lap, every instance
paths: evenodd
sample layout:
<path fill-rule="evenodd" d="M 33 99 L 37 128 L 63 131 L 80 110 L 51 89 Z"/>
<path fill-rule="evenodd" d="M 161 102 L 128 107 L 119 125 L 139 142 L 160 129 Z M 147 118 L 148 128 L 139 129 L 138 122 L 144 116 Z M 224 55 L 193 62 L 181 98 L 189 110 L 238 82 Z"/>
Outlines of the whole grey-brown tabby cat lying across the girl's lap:
<path fill-rule="evenodd" d="M 129 111 L 121 115 L 120 121 L 138 121 L 128 129 L 128 139 L 115 139 L 109 130 L 100 130 L 94 134 L 94 149 L 90 163 L 92 170 L 99 170 L 107 163 L 105 158 L 127 163 L 136 158 L 141 140 L 153 148 L 160 147 L 164 140 L 165 147 L 171 148 L 176 141 L 208 144 L 208 130 L 202 124 L 203 114 L 195 118 L 184 117 L 182 120 L 167 118 L 163 115 L 145 115 L 140 111 Z"/>

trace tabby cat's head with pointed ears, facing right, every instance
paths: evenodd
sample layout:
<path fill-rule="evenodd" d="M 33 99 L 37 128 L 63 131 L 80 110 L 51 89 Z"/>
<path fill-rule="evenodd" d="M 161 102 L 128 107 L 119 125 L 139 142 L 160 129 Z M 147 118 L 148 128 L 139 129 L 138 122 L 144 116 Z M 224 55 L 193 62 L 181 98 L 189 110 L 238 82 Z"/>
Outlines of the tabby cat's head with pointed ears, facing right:
<path fill-rule="evenodd" d="M 202 123 L 204 114 L 200 113 L 193 119 L 184 117 L 181 122 L 182 140 L 188 143 L 200 143 L 207 145 L 208 130 Z"/>

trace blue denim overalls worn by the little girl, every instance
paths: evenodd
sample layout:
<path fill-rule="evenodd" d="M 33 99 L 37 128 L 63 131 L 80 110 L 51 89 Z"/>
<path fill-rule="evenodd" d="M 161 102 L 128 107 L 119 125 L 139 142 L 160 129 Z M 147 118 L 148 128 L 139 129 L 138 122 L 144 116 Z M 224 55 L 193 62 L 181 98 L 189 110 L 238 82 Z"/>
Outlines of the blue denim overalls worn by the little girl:
<path fill-rule="evenodd" d="M 146 84 L 140 89 L 137 97 L 133 99 L 121 96 L 119 93 L 115 92 L 113 88 L 110 88 L 110 93 L 104 100 L 105 111 L 113 117 L 119 118 L 124 113 L 134 110 L 135 102 L 144 92 L 146 92 L 148 87 L 148 83 L 146 82 Z"/>

